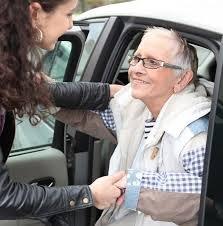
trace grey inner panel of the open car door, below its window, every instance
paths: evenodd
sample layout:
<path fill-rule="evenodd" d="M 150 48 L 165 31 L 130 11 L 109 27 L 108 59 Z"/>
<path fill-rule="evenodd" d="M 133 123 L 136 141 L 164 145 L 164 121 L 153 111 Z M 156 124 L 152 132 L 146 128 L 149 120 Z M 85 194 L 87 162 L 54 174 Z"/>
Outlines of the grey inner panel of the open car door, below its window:
<path fill-rule="evenodd" d="M 54 148 L 10 157 L 6 165 L 11 179 L 16 182 L 33 185 L 40 182 L 38 185 L 50 187 L 68 185 L 65 155 Z M 0 221 L 0 226 L 20 225 L 41 226 L 44 224 L 39 220 Z"/>

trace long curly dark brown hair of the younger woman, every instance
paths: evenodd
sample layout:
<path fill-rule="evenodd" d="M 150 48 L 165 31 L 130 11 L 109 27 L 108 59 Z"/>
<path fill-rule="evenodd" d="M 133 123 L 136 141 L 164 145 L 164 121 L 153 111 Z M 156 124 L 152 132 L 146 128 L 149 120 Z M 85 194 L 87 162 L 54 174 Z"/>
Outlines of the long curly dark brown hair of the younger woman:
<path fill-rule="evenodd" d="M 47 82 L 40 73 L 40 54 L 36 48 L 35 32 L 28 10 L 32 1 L 1 1 L 0 107 L 13 111 L 19 117 L 27 114 L 30 122 L 36 124 L 40 116 L 38 106 L 48 109 L 52 101 Z M 35 0 L 46 12 L 54 10 L 65 1 Z"/>

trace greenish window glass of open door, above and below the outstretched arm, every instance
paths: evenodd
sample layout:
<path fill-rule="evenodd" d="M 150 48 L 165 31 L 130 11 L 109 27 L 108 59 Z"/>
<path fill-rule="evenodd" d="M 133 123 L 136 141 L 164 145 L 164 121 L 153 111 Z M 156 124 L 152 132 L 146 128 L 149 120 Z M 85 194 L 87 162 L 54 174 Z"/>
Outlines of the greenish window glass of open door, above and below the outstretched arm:
<path fill-rule="evenodd" d="M 43 72 L 57 81 L 63 81 L 71 48 L 70 42 L 59 41 L 53 51 L 42 51 Z M 43 119 L 37 126 L 32 126 L 28 117 L 17 119 L 12 151 L 51 145 L 54 124 L 55 119 L 51 115 Z"/>

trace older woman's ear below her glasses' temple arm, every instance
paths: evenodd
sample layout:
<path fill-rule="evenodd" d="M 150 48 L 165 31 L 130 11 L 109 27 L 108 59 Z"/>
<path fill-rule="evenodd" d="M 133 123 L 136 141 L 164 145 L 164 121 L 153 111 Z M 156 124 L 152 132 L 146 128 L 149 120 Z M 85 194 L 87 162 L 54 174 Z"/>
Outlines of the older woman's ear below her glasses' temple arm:
<path fill-rule="evenodd" d="M 192 70 L 187 70 L 184 74 L 177 78 L 177 82 L 173 87 L 174 93 L 181 92 L 193 80 Z"/>

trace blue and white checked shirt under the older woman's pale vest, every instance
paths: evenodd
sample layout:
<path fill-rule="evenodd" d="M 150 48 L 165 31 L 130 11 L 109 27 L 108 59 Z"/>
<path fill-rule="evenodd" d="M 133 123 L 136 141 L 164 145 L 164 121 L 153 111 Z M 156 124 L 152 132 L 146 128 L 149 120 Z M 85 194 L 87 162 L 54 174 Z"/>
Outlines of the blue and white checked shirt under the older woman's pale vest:
<path fill-rule="evenodd" d="M 97 112 L 108 129 L 115 131 L 115 122 L 110 108 Z M 145 139 L 155 122 L 145 122 Z M 202 174 L 204 164 L 205 147 L 200 146 L 183 155 L 182 165 L 185 173 L 166 172 L 142 172 L 134 169 L 128 171 L 128 178 L 134 178 L 133 184 L 140 184 L 140 187 L 166 192 L 200 193 L 202 186 Z"/>

